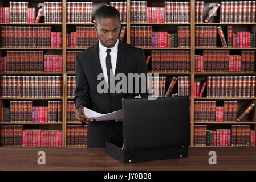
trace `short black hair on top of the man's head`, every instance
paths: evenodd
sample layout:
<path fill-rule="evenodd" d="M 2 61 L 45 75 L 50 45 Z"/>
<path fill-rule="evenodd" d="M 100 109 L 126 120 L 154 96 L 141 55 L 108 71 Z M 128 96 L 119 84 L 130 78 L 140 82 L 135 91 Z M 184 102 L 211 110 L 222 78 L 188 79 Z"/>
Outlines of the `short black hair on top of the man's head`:
<path fill-rule="evenodd" d="M 118 19 L 120 19 L 120 13 L 115 7 L 104 5 L 104 6 L 101 6 L 99 9 L 97 9 L 97 11 L 95 13 L 95 21 L 96 21 L 96 19 L 99 19 L 99 18 L 118 18 Z"/>

